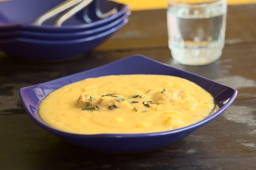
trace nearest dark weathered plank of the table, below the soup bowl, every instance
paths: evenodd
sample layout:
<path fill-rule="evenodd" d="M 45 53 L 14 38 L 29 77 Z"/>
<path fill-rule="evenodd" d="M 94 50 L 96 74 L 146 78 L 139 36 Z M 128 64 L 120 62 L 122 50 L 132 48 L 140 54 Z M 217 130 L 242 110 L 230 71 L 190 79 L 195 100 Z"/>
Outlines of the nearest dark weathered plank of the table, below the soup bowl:
<path fill-rule="evenodd" d="M 101 153 L 74 146 L 41 129 L 26 114 L 0 116 L 0 136 L 4 136 L 0 138 L 0 167 L 3 170 L 255 170 L 255 102 L 256 99 L 238 100 L 187 138 L 160 150 L 132 154 Z"/>

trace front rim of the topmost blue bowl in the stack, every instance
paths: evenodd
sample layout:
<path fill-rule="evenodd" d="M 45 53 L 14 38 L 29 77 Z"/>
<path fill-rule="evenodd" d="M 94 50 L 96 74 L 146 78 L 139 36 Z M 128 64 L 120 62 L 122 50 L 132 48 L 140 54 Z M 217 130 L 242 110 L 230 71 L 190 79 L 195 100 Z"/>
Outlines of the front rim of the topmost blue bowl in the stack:
<path fill-rule="evenodd" d="M 8 2 L 8 1 L 7 1 Z M 49 30 L 70 30 L 70 29 L 81 29 L 81 28 L 90 28 L 90 27 L 95 27 L 100 24 L 104 24 L 106 22 L 115 20 L 116 18 L 120 17 L 122 14 L 125 14 L 125 12 L 129 11 L 130 6 L 124 5 L 124 7 L 117 12 L 116 14 L 111 15 L 108 18 L 102 19 L 95 21 L 93 23 L 84 23 L 80 25 L 73 25 L 73 26 L 61 26 L 61 27 L 55 27 L 55 26 L 48 26 L 48 25 L 42 25 L 42 26 L 36 26 L 32 24 L 23 24 L 23 23 L 1 23 L 0 28 L 6 29 L 6 28 L 16 28 L 19 30 L 19 28 L 30 28 L 30 29 L 35 29 L 35 30 L 44 30 L 44 29 L 49 29 Z"/>

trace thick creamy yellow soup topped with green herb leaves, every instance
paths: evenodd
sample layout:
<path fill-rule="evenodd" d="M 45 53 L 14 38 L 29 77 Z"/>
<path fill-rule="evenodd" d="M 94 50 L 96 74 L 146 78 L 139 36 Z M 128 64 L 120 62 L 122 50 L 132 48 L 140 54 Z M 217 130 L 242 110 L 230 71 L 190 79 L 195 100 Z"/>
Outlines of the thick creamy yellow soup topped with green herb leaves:
<path fill-rule="evenodd" d="M 151 133 L 192 125 L 214 107 L 213 97 L 189 80 L 119 75 L 84 79 L 53 91 L 39 105 L 39 115 L 70 133 Z"/>

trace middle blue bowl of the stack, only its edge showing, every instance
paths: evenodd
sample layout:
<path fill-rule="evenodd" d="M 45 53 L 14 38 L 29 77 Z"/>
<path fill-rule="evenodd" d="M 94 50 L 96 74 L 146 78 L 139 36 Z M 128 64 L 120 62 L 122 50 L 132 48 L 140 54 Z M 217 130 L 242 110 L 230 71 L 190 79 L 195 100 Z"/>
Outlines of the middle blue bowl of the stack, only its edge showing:
<path fill-rule="evenodd" d="M 0 32 L 0 40 L 6 40 L 11 38 L 32 38 L 38 40 L 72 40 L 91 37 L 96 34 L 101 34 L 109 29 L 117 26 L 119 23 L 128 18 L 131 15 L 131 11 L 128 11 L 122 17 L 115 20 L 108 25 L 94 28 L 92 30 L 70 33 L 49 33 L 49 32 L 35 32 L 35 31 L 2 31 Z"/>

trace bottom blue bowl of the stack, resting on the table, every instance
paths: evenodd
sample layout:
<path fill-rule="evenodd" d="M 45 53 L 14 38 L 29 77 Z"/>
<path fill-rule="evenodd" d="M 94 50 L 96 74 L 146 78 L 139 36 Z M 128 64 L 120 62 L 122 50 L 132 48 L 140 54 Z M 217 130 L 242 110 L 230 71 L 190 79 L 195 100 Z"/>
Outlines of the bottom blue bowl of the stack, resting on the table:
<path fill-rule="evenodd" d="M 113 33 L 125 26 L 128 18 L 117 26 L 91 37 L 75 40 L 35 40 L 16 38 L 0 40 L 0 50 L 11 57 L 34 60 L 58 61 L 76 57 L 93 50 Z"/>

